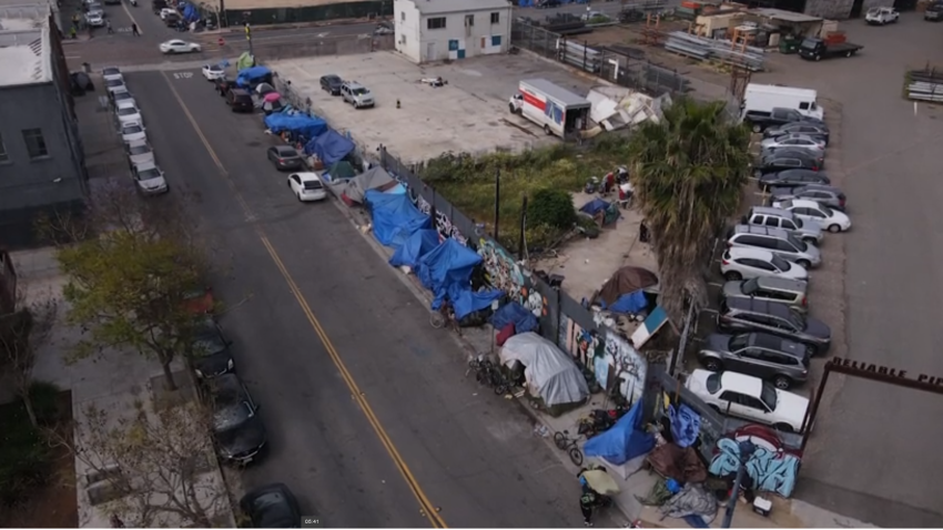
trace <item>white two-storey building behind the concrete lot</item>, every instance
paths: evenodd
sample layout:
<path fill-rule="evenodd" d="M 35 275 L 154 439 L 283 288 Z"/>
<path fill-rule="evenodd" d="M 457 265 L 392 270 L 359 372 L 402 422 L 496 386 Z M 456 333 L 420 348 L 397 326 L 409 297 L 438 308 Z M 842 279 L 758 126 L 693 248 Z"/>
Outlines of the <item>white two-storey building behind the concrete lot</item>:
<path fill-rule="evenodd" d="M 416 63 L 504 53 L 510 47 L 507 0 L 394 0 L 396 51 Z"/>

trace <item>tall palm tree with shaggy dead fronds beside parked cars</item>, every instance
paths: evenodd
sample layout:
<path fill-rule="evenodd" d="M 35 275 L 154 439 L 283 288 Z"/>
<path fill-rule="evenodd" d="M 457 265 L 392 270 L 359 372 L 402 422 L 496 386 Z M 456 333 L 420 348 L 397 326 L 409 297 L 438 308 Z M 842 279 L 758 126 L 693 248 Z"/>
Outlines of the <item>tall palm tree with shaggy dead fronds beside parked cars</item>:
<path fill-rule="evenodd" d="M 661 305 L 680 322 L 688 297 L 706 305 L 704 265 L 713 237 L 740 205 L 750 132 L 723 102 L 682 98 L 663 113 L 629 141 L 630 174 L 658 256 Z"/>

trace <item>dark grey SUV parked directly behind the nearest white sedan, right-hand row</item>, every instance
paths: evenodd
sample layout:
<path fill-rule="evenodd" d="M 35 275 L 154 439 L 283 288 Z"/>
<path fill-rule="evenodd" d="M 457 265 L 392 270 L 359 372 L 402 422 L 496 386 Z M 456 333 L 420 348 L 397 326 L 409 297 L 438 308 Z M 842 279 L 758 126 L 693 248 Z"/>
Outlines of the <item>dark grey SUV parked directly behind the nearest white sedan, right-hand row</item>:
<path fill-rule="evenodd" d="M 809 378 L 805 346 L 765 333 L 712 333 L 704 339 L 698 360 L 710 371 L 747 374 L 771 381 L 781 390 Z"/>

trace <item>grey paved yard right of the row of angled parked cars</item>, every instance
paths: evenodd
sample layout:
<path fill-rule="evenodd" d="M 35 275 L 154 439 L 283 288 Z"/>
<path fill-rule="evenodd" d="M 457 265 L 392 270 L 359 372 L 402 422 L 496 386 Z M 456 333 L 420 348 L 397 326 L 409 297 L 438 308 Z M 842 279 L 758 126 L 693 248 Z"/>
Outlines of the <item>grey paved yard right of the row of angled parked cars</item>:
<path fill-rule="evenodd" d="M 845 303 L 849 357 L 943 375 L 943 113 L 901 96 L 907 68 L 943 63 L 941 26 L 905 13 L 900 24 L 842 23 L 859 57 L 794 59 L 781 82 L 810 86 L 841 109 L 849 214 Z M 831 154 L 830 154 L 831 155 Z M 933 486 L 943 473 L 943 397 L 833 376 L 803 461 L 798 495 L 881 527 L 941 527 Z"/>

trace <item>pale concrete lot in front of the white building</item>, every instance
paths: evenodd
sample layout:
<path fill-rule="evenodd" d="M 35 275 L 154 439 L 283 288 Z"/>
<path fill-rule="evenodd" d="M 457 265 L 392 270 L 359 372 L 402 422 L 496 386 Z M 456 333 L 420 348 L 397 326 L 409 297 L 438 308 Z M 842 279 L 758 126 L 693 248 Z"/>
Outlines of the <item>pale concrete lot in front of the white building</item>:
<path fill-rule="evenodd" d="M 530 55 L 493 55 L 419 68 L 395 52 L 276 61 L 272 69 L 311 98 L 331 125 L 349 131 L 367 150 L 386 145 L 404 161 L 418 162 L 447 152 L 481 153 L 497 147 L 524 151 L 552 143 L 531 122 L 508 112 L 518 81 L 543 78 L 579 95 L 592 82 Z M 318 80 L 334 73 L 366 85 L 376 108 L 355 110 L 322 91 Z M 443 78 L 433 88 L 423 79 Z M 397 108 L 397 101 L 399 108 Z"/>

